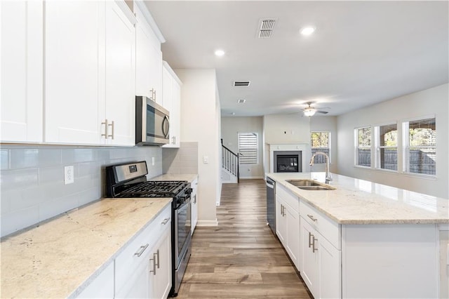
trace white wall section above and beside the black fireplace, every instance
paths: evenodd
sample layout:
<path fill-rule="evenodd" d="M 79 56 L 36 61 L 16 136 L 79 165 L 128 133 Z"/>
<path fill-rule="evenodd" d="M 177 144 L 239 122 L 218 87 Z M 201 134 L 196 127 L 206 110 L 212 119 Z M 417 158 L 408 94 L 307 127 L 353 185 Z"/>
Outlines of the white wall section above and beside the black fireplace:
<path fill-rule="evenodd" d="M 263 117 L 263 131 L 265 173 L 269 172 L 269 143 L 304 142 L 310 144 L 310 119 L 302 116 L 301 113 L 265 115 Z M 309 161 L 310 157 L 310 151 L 302 155 L 302 159 L 306 159 L 306 161 Z M 309 171 L 309 168 L 302 171 Z"/>

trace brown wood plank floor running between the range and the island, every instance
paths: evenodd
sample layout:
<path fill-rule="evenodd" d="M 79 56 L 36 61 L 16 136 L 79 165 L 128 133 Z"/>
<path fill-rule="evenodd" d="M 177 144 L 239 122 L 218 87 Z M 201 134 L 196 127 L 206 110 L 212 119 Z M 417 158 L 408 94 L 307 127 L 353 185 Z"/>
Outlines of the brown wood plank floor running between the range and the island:
<path fill-rule="evenodd" d="M 197 227 L 178 298 L 311 298 L 267 226 L 264 180 L 223 184 L 217 227 Z"/>

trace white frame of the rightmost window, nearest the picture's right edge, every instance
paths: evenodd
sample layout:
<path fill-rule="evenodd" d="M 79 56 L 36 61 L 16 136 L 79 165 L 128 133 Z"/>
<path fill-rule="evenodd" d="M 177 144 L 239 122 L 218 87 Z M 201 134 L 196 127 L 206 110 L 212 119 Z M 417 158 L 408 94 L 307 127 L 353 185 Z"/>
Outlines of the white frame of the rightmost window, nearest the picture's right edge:
<path fill-rule="evenodd" d="M 436 116 L 435 115 L 428 115 L 424 117 L 416 117 L 413 119 L 406 119 L 402 122 L 402 162 L 403 167 L 402 171 L 406 175 L 414 175 L 414 176 L 420 176 L 420 177 L 428 177 L 428 178 L 436 178 L 437 175 L 437 168 L 438 168 L 438 153 L 437 153 L 437 147 L 438 147 L 438 139 L 437 136 L 435 136 L 435 146 L 429 147 L 427 145 L 421 145 L 421 146 L 413 146 L 414 148 L 422 148 L 422 149 L 428 149 L 433 148 L 435 151 L 435 174 L 429 174 L 429 173 L 414 173 L 410 172 L 410 161 L 409 161 L 409 148 L 410 148 L 410 132 L 409 132 L 409 124 L 412 121 L 422 121 L 425 119 L 435 119 L 435 132 L 436 132 Z M 437 134 L 437 132 L 435 133 Z"/>

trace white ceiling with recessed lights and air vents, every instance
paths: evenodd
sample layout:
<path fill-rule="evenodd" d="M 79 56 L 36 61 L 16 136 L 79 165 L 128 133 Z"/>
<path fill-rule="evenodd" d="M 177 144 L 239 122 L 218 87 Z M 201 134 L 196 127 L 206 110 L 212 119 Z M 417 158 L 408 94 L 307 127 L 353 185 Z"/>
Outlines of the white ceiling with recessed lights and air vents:
<path fill-rule="evenodd" d="M 305 102 L 340 115 L 449 81 L 448 1 L 146 4 L 173 69 L 216 69 L 222 116 L 301 112 Z M 257 35 L 263 18 L 276 19 L 268 39 Z M 300 34 L 306 25 L 314 34 Z"/>

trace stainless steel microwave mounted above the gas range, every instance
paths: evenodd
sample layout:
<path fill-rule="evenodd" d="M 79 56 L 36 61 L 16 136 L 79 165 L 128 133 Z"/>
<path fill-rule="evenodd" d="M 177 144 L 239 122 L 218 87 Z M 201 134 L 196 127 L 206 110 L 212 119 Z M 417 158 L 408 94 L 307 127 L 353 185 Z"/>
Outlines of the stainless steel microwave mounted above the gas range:
<path fill-rule="evenodd" d="M 166 145 L 170 140 L 170 113 L 154 100 L 135 97 L 135 144 Z"/>

